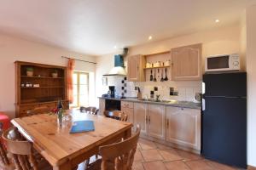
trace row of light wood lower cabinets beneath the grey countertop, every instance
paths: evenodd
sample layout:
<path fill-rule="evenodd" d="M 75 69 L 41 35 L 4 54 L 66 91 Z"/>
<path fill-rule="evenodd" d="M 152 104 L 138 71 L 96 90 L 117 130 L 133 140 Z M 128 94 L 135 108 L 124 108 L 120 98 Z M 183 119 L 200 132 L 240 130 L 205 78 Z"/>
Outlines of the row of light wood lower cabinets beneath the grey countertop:
<path fill-rule="evenodd" d="M 127 122 L 140 125 L 143 138 L 200 152 L 201 110 L 132 101 L 121 101 L 120 105 Z M 100 114 L 103 111 L 105 99 L 100 99 Z"/>

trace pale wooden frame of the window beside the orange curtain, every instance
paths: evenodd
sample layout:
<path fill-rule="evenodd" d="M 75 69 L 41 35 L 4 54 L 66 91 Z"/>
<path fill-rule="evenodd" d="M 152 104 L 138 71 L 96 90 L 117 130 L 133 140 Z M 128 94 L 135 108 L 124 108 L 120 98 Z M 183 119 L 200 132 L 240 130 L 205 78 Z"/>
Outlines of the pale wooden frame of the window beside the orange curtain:
<path fill-rule="evenodd" d="M 71 106 L 71 108 L 78 108 L 80 107 L 80 86 L 81 85 L 85 85 L 85 84 L 80 84 L 80 75 L 86 75 L 88 77 L 88 88 L 87 88 L 87 94 L 88 94 L 88 102 L 89 102 L 89 88 L 90 88 L 90 83 L 89 83 L 89 72 L 83 72 L 83 71 L 73 71 L 73 74 L 77 74 L 77 82 L 76 82 L 76 86 L 77 86 L 77 96 L 76 96 L 76 99 L 77 99 L 77 105 L 73 105 Z M 73 83 L 73 86 L 74 86 L 74 83 Z M 75 96 L 73 96 L 73 98 L 75 98 Z"/>

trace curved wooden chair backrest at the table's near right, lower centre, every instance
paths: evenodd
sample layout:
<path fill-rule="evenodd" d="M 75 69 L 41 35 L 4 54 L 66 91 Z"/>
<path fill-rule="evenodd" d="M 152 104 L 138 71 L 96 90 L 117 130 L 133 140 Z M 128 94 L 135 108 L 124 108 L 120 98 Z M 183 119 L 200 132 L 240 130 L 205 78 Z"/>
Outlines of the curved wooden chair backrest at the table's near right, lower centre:
<path fill-rule="evenodd" d="M 116 144 L 101 146 L 99 151 L 102 156 L 102 170 L 130 170 L 137 150 L 137 141 L 141 132 L 141 127 L 137 125 L 137 130 L 129 139 L 125 139 Z"/>

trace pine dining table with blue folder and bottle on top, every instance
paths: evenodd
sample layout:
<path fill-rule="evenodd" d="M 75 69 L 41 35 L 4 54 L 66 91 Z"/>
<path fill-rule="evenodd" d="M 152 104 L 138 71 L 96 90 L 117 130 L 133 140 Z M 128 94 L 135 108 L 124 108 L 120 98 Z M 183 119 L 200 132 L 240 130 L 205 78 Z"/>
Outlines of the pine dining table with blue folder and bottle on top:
<path fill-rule="evenodd" d="M 131 136 L 130 122 L 70 110 L 66 121 L 58 125 L 57 116 L 49 113 L 15 118 L 11 122 L 33 147 L 49 161 L 54 170 L 71 170 L 90 156 L 98 154 L 99 146 Z M 75 121 L 91 120 L 95 130 L 69 133 Z"/>

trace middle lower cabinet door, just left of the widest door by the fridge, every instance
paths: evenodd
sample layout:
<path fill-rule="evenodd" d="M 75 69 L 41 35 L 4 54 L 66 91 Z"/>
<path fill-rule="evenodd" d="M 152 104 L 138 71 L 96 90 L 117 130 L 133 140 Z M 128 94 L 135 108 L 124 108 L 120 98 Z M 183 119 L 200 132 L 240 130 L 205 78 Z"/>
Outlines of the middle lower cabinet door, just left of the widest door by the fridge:
<path fill-rule="evenodd" d="M 166 106 L 148 105 L 148 135 L 166 139 Z"/>

